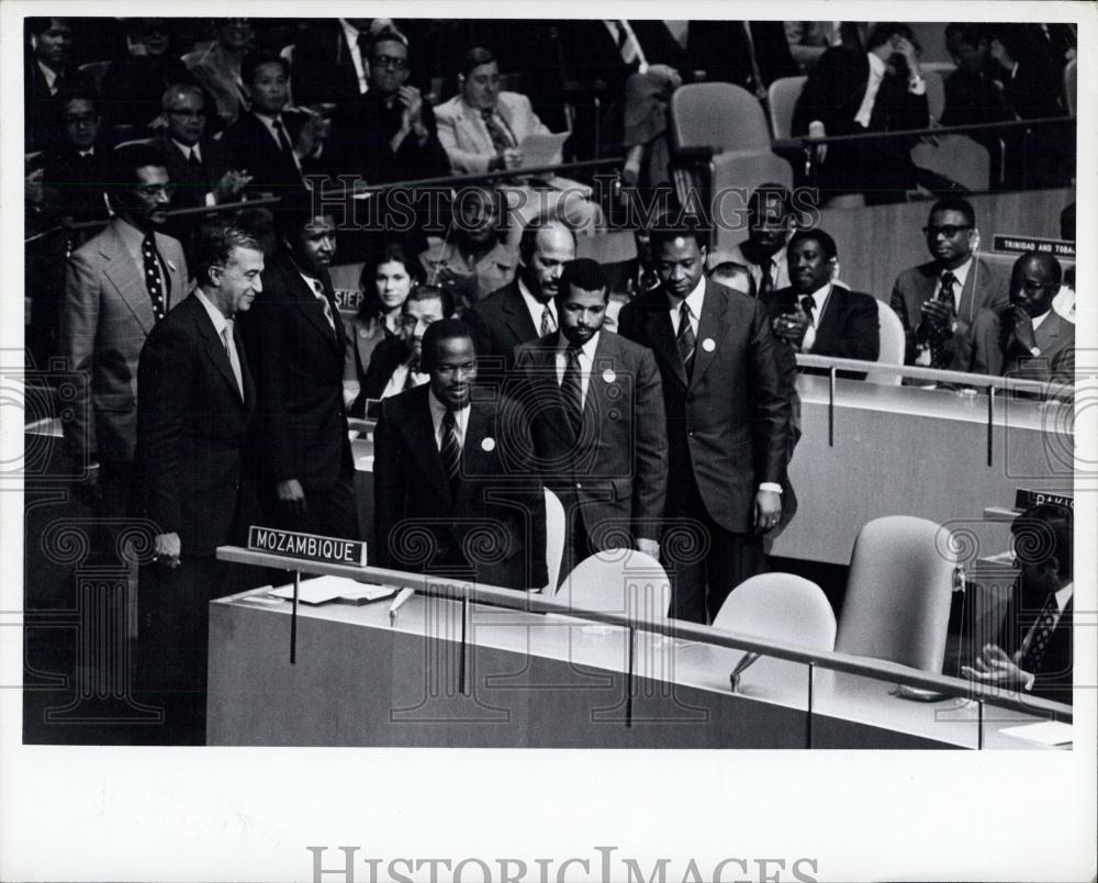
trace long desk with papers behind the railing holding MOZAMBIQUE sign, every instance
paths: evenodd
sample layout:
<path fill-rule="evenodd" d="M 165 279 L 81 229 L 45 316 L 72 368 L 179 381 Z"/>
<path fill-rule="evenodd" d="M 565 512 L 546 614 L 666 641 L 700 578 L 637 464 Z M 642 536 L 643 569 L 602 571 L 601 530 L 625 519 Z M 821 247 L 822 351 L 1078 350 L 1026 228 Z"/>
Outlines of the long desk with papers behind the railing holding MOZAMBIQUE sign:
<path fill-rule="evenodd" d="M 386 601 L 299 607 L 264 592 L 211 605 L 213 745 L 803 748 L 805 666 L 638 633 L 631 726 L 626 633 L 582 619 L 473 605 L 458 692 L 460 604 L 416 595 L 389 623 Z M 818 670 L 813 747 L 975 748 L 976 703 L 918 703 L 894 684 Z M 271 709 L 278 709 L 272 716 Z M 1039 720 L 985 707 L 985 748 L 1032 748 L 1005 735 Z"/>

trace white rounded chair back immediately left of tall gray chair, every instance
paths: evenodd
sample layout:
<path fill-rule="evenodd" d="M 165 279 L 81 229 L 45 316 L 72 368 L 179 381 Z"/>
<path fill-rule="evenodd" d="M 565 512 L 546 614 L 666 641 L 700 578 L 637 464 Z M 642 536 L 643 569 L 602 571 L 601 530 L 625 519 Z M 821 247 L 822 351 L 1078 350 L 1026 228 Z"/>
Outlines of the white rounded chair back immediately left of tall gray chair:
<path fill-rule="evenodd" d="M 713 626 L 780 644 L 834 649 L 831 602 L 816 583 L 793 573 L 760 573 L 744 580 L 725 599 Z M 731 674 L 732 690 L 758 658 L 759 653 L 743 655 Z"/>

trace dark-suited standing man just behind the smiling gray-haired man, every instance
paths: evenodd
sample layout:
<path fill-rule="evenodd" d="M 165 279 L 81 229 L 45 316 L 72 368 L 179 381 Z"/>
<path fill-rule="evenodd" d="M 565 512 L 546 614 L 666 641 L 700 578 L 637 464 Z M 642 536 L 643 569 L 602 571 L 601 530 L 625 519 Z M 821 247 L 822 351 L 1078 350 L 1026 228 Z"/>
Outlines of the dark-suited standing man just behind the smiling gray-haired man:
<path fill-rule="evenodd" d="M 278 527 L 358 539 L 347 437 L 347 338 L 328 267 L 335 223 L 307 205 L 279 213 L 282 242 L 244 323 L 256 378 L 261 496 Z"/>

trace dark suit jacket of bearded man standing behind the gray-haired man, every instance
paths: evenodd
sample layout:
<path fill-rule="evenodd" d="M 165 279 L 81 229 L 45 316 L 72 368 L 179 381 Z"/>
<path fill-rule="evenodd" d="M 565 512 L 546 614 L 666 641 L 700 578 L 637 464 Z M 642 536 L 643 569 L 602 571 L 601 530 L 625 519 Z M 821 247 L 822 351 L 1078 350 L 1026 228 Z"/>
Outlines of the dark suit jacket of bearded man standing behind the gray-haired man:
<path fill-rule="evenodd" d="M 332 283 L 321 281 L 335 331 L 284 249 L 264 270 L 264 290 L 240 322 L 256 378 L 264 480 L 296 479 L 306 493 L 328 490 L 354 469 L 343 404 L 347 338 Z"/>

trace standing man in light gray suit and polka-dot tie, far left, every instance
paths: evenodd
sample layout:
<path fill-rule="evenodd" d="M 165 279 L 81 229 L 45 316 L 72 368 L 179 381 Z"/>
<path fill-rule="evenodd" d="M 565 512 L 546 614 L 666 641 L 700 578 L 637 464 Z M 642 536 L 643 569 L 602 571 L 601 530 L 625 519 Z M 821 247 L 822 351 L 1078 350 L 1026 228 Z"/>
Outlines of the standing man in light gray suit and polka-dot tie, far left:
<path fill-rule="evenodd" d="M 61 354 L 81 378 L 65 420 L 66 448 L 96 515 L 125 514 L 137 439 L 137 357 L 153 326 L 188 293 L 178 241 L 157 231 L 171 185 L 164 155 L 145 144 L 115 152 L 115 217 L 69 257 Z"/>

